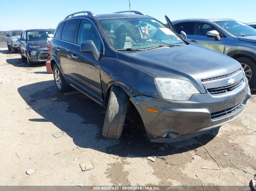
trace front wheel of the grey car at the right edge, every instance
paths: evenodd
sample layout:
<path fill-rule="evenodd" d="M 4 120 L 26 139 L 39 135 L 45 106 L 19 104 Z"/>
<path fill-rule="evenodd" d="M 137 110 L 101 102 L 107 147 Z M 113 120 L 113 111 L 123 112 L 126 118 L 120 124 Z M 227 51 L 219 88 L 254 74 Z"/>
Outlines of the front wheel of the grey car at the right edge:
<path fill-rule="evenodd" d="M 244 73 L 248 79 L 249 86 L 253 85 L 256 81 L 256 62 L 249 57 L 241 57 L 236 59 L 244 68 Z"/>

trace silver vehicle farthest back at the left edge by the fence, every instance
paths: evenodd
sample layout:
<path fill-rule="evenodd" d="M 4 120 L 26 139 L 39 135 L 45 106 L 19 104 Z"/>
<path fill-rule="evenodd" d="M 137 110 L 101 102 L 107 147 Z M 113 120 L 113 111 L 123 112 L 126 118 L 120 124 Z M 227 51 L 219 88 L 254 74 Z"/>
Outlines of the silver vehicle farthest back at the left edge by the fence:
<path fill-rule="evenodd" d="M 12 53 L 17 52 L 18 50 L 18 40 L 22 33 L 22 30 L 10 30 L 8 34 L 6 35 L 6 43 L 7 48 L 9 51 L 12 51 Z"/>

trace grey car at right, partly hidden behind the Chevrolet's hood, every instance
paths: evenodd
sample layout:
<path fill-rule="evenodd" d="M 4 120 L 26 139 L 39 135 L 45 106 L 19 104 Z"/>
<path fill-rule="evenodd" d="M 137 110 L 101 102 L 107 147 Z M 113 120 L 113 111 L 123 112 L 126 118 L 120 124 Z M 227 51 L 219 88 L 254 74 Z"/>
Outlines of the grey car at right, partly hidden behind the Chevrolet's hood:
<path fill-rule="evenodd" d="M 187 40 L 224 53 L 241 63 L 249 85 L 256 82 L 256 30 L 231 19 L 183 19 L 172 21 Z"/>

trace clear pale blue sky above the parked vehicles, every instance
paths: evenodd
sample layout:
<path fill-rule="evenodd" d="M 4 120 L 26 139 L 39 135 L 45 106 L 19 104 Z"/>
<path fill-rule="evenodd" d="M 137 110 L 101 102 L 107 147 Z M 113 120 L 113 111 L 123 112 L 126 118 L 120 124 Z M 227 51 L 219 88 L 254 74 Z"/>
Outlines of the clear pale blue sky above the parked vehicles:
<path fill-rule="evenodd" d="M 12 0 L 1 1 L 0 30 L 55 28 L 68 14 L 78 11 L 112 13 L 129 10 L 128 0 Z M 19 6 L 21 6 L 19 8 Z M 131 10 L 166 23 L 185 18 L 231 18 L 256 22 L 256 0 L 131 0 Z"/>

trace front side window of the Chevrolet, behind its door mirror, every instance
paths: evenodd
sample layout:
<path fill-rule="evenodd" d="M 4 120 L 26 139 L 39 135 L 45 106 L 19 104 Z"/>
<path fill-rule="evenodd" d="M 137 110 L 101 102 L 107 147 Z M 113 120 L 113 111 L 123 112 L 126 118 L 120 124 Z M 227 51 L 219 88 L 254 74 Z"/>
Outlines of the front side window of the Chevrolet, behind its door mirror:
<path fill-rule="evenodd" d="M 101 40 L 95 27 L 89 21 L 82 20 L 78 29 L 77 44 L 81 45 L 87 40 L 93 40 L 97 50 L 101 52 Z"/>

